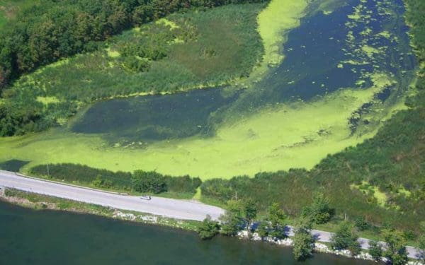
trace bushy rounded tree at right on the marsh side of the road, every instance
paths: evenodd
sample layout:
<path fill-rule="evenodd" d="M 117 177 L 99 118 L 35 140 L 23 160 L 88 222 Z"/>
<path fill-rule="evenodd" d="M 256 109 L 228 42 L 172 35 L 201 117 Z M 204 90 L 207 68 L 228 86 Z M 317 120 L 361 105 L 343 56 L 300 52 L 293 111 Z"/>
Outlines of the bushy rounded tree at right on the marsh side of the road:
<path fill-rule="evenodd" d="M 322 193 L 314 194 L 313 203 L 302 209 L 302 216 L 310 218 L 316 224 L 327 223 L 334 213 L 335 210 L 330 207 L 329 199 Z"/>

